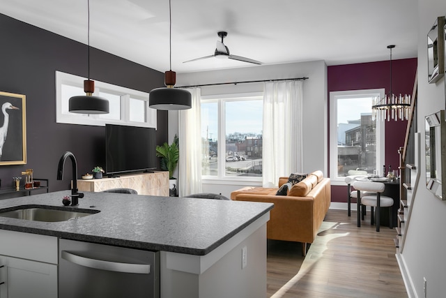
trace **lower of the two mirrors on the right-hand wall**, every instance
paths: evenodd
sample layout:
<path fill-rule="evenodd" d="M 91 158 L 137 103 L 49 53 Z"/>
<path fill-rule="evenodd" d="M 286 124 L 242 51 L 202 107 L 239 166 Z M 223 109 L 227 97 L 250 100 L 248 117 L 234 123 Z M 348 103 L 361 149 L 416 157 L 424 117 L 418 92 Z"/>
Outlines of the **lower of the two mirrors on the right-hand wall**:
<path fill-rule="evenodd" d="M 426 116 L 426 188 L 446 200 L 446 119 L 445 110 Z"/>

